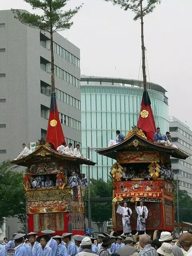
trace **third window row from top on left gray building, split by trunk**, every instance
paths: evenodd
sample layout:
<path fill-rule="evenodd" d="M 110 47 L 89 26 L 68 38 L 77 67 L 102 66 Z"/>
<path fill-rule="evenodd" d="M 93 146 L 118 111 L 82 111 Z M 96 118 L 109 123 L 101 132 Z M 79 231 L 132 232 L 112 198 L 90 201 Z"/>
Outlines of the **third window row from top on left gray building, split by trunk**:
<path fill-rule="evenodd" d="M 55 89 L 56 92 L 56 98 L 58 100 L 61 100 L 62 102 L 65 102 L 66 104 L 81 109 L 81 102 L 80 100 L 77 100 L 76 98 L 66 94 L 65 92 L 62 92 L 59 89 Z M 51 86 L 43 81 L 41 81 L 41 93 L 50 96 L 51 95 Z"/>

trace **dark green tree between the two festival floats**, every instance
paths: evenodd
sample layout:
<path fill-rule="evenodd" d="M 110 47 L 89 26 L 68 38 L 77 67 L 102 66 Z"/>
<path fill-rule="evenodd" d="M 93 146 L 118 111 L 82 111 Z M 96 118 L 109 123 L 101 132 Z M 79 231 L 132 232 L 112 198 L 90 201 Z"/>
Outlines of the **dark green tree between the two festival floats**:
<path fill-rule="evenodd" d="M 90 184 L 91 198 L 112 197 L 113 181 L 103 181 L 91 179 Z M 86 189 L 86 198 L 88 189 Z M 86 203 L 86 213 L 88 213 Z M 88 217 L 86 215 L 86 217 Z M 99 232 L 103 231 L 104 225 L 112 218 L 112 202 L 91 202 L 91 220 L 98 226 Z"/>

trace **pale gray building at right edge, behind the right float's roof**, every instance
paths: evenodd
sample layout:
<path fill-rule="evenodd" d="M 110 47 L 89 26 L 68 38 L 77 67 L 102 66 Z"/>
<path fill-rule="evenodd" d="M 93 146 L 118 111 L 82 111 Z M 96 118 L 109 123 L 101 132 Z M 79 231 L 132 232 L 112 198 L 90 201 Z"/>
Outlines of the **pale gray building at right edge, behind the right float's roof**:
<path fill-rule="evenodd" d="M 169 117 L 169 122 L 173 144 L 189 156 L 186 160 L 171 159 L 176 174 L 174 178 L 178 175 L 180 189 L 186 190 L 192 196 L 192 131 L 174 116 Z"/>

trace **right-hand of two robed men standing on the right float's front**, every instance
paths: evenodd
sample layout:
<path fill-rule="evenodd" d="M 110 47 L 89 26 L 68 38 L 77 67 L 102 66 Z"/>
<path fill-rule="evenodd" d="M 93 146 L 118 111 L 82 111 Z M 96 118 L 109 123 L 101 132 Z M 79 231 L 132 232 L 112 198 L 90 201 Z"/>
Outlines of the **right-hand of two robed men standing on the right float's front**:
<path fill-rule="evenodd" d="M 137 202 L 135 202 L 135 210 L 138 214 L 136 235 L 138 235 L 139 232 L 144 232 L 144 234 L 146 234 L 145 220 L 148 216 L 148 209 L 143 205 L 143 201 L 140 201 L 140 206 L 137 206 Z"/>

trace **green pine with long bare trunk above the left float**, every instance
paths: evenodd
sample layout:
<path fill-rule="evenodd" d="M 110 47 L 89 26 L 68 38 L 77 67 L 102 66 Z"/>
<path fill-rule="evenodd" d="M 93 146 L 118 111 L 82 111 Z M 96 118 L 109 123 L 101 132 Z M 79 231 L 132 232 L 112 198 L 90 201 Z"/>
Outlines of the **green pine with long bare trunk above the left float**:
<path fill-rule="evenodd" d="M 43 14 L 30 14 L 28 12 L 20 12 L 14 10 L 15 18 L 18 18 L 23 24 L 32 28 L 39 28 L 50 33 L 50 48 L 51 48 L 51 91 L 54 92 L 54 51 L 53 51 L 53 33 L 60 30 L 69 29 L 73 22 L 70 22 L 72 17 L 78 12 L 81 6 L 76 6 L 74 10 L 63 11 L 68 0 L 24 0 L 30 4 L 33 9 L 42 10 Z"/>

